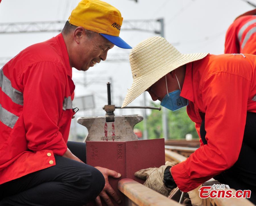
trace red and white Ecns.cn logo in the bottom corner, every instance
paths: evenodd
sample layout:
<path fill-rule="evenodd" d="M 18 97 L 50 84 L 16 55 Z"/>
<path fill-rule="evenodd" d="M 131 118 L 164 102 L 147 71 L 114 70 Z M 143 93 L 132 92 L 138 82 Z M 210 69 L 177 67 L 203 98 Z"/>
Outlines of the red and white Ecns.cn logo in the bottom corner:
<path fill-rule="evenodd" d="M 251 190 L 237 190 L 234 194 L 231 189 L 225 189 L 224 184 L 214 184 L 213 186 L 203 186 L 199 188 L 200 198 L 250 198 Z"/>

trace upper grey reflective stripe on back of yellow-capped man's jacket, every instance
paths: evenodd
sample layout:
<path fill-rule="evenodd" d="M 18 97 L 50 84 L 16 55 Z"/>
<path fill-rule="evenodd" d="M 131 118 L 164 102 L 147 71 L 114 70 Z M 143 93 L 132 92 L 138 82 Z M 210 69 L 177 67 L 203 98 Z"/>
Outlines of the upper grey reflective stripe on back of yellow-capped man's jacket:
<path fill-rule="evenodd" d="M 3 67 L 0 70 L 0 87 L 14 103 L 23 105 L 23 94 L 12 87 L 11 81 L 3 73 Z"/>

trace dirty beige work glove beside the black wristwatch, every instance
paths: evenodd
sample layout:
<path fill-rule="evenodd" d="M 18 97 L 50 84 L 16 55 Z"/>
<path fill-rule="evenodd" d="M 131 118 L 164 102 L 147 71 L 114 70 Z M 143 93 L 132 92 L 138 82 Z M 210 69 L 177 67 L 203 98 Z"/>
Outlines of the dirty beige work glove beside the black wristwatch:
<path fill-rule="evenodd" d="M 141 178 L 146 180 L 143 185 L 146 187 L 153 189 L 162 195 L 168 196 L 171 188 L 167 188 L 164 185 L 164 170 L 168 166 L 174 166 L 171 162 L 166 162 L 165 165 L 160 166 L 159 168 L 148 168 L 143 169 L 138 172 L 135 172 L 135 176 L 137 178 Z"/>

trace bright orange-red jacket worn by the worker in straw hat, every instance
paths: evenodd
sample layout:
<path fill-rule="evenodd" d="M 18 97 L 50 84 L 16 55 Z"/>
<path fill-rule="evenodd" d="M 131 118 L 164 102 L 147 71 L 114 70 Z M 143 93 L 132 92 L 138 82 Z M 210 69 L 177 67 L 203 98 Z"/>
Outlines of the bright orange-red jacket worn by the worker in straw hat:
<path fill-rule="evenodd" d="M 172 167 L 181 191 L 197 188 L 237 161 L 246 113 L 256 112 L 256 56 L 251 54 L 207 55 L 186 66 L 181 96 L 189 100 L 187 114 L 200 137 L 205 114 L 207 144 Z"/>

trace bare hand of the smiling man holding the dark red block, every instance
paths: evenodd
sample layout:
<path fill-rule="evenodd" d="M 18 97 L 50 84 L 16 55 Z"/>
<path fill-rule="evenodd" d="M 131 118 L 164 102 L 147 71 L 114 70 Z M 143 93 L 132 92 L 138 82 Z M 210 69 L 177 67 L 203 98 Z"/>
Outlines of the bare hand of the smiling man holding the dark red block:
<path fill-rule="evenodd" d="M 96 199 L 95 199 L 96 204 L 97 205 L 102 205 L 101 204 L 101 200 L 100 200 L 100 197 L 102 197 L 102 199 L 104 199 L 104 201 L 107 203 L 107 205 L 113 206 L 113 203 L 112 203 L 110 197 L 108 196 L 108 194 L 111 195 L 113 197 L 113 199 L 118 204 L 120 204 L 121 203 L 121 199 L 117 195 L 115 190 L 110 186 L 110 184 L 108 182 L 108 176 L 111 176 L 113 178 L 119 178 L 119 177 L 121 177 L 121 174 L 119 174 L 118 172 L 116 172 L 114 170 L 109 170 L 109 169 L 103 168 L 103 167 L 96 166 L 95 168 L 100 170 L 100 172 L 103 174 L 103 176 L 105 178 L 105 186 L 104 186 L 103 190 L 100 192 L 99 196 L 96 197 Z"/>

